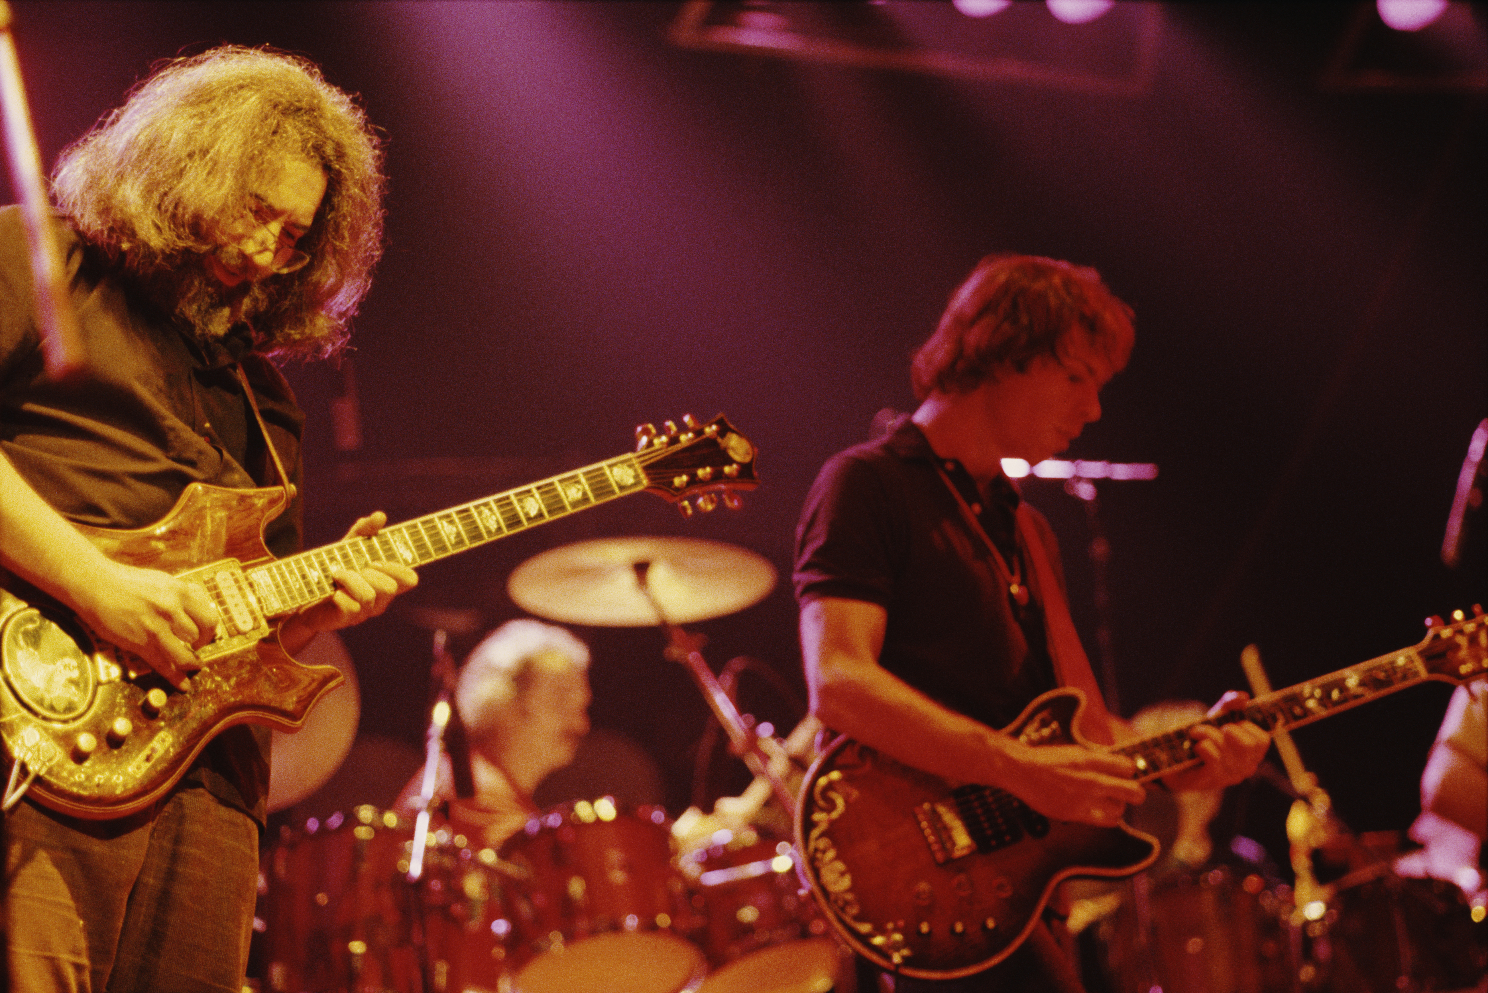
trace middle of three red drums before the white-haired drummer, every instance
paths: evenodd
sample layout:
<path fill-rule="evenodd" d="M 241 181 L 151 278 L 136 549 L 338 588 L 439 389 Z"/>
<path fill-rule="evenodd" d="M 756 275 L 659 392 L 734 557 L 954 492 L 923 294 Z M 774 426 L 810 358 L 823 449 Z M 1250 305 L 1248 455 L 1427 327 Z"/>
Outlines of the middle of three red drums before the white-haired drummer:
<path fill-rule="evenodd" d="M 494 925 L 509 933 L 518 993 L 682 993 L 702 981 L 659 807 L 565 804 L 531 819 L 501 859 L 515 881 Z"/>

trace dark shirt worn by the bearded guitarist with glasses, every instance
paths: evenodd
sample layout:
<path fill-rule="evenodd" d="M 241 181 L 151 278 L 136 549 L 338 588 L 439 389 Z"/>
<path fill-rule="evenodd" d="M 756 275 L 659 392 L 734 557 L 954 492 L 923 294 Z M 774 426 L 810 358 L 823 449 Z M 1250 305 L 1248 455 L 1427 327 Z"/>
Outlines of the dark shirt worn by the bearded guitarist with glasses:
<path fill-rule="evenodd" d="M 187 484 L 277 485 L 232 371 L 241 360 L 296 494 L 304 414 L 246 329 L 202 345 L 147 305 L 71 228 L 57 226 L 85 353 L 80 375 L 46 377 L 21 213 L 0 210 L 0 451 L 58 512 L 134 529 L 170 512 Z M 301 500 L 265 530 L 275 557 L 299 551 Z M 266 728 L 231 728 L 187 773 L 262 823 Z"/>

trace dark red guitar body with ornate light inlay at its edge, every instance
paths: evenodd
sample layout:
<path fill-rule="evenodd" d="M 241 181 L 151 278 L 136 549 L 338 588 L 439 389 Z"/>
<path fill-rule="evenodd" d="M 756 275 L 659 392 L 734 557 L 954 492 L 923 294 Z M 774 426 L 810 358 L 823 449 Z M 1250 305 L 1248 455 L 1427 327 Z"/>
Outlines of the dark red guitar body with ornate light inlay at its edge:
<path fill-rule="evenodd" d="M 1006 731 L 1086 744 L 1071 732 L 1083 704 L 1076 689 L 1051 691 Z M 952 789 L 845 737 L 806 773 L 798 805 L 801 871 L 827 920 L 859 954 L 915 978 L 1001 962 L 1061 880 L 1132 875 L 1158 856 L 1126 825 L 1048 820 L 1004 791 Z"/>

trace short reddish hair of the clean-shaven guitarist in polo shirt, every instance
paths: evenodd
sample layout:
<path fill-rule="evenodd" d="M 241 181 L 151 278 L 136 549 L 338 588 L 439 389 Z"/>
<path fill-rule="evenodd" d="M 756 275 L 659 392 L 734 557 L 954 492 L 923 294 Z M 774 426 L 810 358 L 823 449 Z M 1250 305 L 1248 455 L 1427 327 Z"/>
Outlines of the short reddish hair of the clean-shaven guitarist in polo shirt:
<path fill-rule="evenodd" d="M 1135 338 L 1131 307 L 1095 269 L 1034 255 L 990 255 L 955 289 L 911 366 L 915 396 L 967 393 L 1001 368 L 1061 359 L 1083 333 L 1120 371 Z"/>

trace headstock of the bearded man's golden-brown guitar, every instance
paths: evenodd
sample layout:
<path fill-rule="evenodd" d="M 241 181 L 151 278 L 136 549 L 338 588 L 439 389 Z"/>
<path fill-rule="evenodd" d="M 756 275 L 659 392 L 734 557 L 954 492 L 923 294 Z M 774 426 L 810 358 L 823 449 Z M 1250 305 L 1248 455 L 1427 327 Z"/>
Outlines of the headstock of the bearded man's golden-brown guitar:
<path fill-rule="evenodd" d="M 753 442 L 738 433 L 723 414 L 699 424 L 684 414 L 682 426 L 667 421 L 635 429 L 635 460 L 646 469 L 646 488 L 677 505 L 683 517 L 693 509 L 713 511 L 722 502 L 740 508 L 740 491 L 759 485 Z"/>

